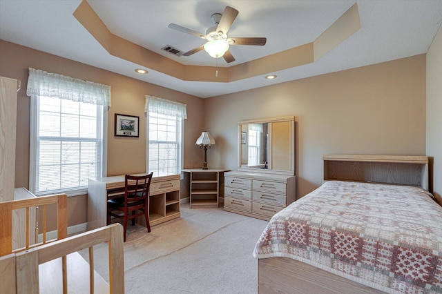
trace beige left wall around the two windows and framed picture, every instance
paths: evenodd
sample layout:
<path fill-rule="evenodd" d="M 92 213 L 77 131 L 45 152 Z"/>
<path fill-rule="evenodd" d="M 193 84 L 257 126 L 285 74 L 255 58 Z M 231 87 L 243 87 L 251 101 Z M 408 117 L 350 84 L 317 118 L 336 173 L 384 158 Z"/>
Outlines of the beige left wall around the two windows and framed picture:
<path fill-rule="evenodd" d="M 144 95 L 146 94 L 187 104 L 189 118 L 184 122 L 186 134 L 184 168 L 193 168 L 202 161 L 200 149 L 194 148 L 194 145 L 203 129 L 201 114 L 204 113 L 202 111 L 204 99 L 2 40 L 0 40 L 0 65 L 1 76 L 21 80 L 17 106 L 16 187 L 28 188 L 29 183 L 30 97 L 26 96 L 29 67 L 111 86 L 112 107 L 108 111 L 107 174 L 109 176 L 144 173 L 146 170 L 146 116 L 144 115 Z M 115 113 L 139 116 L 140 137 L 114 137 Z M 123 150 L 124 156 L 121 156 Z M 86 197 L 86 195 L 69 197 L 68 226 L 86 222 Z"/>

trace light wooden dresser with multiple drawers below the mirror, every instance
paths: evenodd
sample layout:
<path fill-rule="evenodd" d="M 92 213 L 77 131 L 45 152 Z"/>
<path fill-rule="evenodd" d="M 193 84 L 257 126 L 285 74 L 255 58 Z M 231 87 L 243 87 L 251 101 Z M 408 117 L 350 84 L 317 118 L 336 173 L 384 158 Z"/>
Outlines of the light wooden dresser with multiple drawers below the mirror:
<path fill-rule="evenodd" d="M 269 220 L 296 199 L 294 175 L 224 173 L 224 210 Z"/>

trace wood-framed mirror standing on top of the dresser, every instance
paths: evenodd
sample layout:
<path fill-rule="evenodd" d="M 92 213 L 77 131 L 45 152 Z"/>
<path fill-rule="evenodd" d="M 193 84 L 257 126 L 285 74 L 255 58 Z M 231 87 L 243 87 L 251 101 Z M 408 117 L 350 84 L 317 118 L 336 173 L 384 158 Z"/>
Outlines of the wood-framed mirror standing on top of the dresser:
<path fill-rule="evenodd" d="M 294 117 L 239 121 L 238 170 L 294 175 L 294 121 Z"/>

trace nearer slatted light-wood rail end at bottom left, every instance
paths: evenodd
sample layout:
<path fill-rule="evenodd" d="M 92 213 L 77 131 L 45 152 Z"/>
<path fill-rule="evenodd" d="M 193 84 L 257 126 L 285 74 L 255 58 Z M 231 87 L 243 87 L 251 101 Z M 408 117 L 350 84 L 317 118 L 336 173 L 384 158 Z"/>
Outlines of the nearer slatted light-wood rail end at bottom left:
<path fill-rule="evenodd" d="M 123 227 L 121 224 L 112 224 L 97 228 L 93 231 L 81 233 L 73 237 L 67 237 L 55 242 L 50 242 L 27 251 L 15 254 L 16 259 L 16 277 L 17 277 L 17 293 L 39 293 L 40 284 L 44 283 L 45 277 L 39 277 L 39 264 L 50 262 L 59 257 L 66 257 L 71 253 L 77 253 L 85 248 L 89 248 L 89 253 L 93 252 L 93 246 L 108 243 L 109 258 L 109 293 L 124 293 L 124 253 L 123 253 Z M 94 277 L 93 256 L 89 257 L 89 286 L 85 280 L 68 281 L 63 277 L 63 289 L 59 289 L 57 293 L 68 293 L 70 285 L 86 286 L 88 292 L 94 293 Z M 72 268 L 76 268 L 73 266 Z M 63 268 L 63 271 L 69 271 L 70 264 Z M 69 277 L 69 273 L 67 275 Z"/>

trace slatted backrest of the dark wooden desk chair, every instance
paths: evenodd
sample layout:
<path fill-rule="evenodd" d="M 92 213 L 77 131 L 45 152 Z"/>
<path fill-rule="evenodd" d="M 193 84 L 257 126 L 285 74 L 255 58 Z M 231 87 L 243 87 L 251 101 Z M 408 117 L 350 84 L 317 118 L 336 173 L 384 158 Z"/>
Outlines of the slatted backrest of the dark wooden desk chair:
<path fill-rule="evenodd" d="M 148 197 L 153 173 L 148 175 L 126 175 L 124 178 L 124 197 L 127 202 L 139 201 Z"/>

